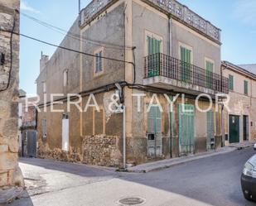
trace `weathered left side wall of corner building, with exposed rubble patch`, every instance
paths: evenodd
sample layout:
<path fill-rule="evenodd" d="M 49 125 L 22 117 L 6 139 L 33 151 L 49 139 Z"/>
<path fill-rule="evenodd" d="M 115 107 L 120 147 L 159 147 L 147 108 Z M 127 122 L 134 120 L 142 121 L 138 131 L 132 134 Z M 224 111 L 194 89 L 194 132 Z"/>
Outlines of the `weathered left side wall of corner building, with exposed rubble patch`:
<path fill-rule="evenodd" d="M 95 99 L 99 104 L 100 112 L 89 108 L 80 111 L 73 105 L 70 113 L 67 113 L 67 105 L 56 105 L 55 109 L 63 109 L 69 117 L 69 151 L 62 150 L 62 118 L 63 113 L 51 113 L 47 111 L 38 113 L 38 156 L 50 157 L 58 160 L 80 161 L 94 165 L 119 165 L 122 155 L 120 151 L 122 134 L 121 114 L 108 112 L 108 106 L 104 100 L 110 101 L 112 91 L 106 92 L 107 84 L 114 84 L 124 80 L 124 3 L 118 3 L 115 8 L 104 12 L 95 22 L 80 31 L 78 20 L 70 28 L 70 33 L 75 34 L 78 40 L 65 36 L 61 46 L 80 50 L 87 54 L 94 54 L 102 49 L 103 55 L 110 59 L 104 59 L 103 73 L 94 74 L 94 57 L 83 55 L 69 50 L 56 50 L 50 60 L 46 61 L 44 69 L 37 81 L 37 93 L 43 98 L 47 96 L 50 101 L 51 93 L 80 93 L 102 88 L 96 93 Z M 81 41 L 80 41 L 81 40 Z M 68 69 L 68 85 L 63 86 L 63 72 Z M 46 83 L 46 93 L 43 92 L 43 84 Z M 85 95 L 80 104 L 83 111 L 89 96 Z M 41 100 L 41 103 L 42 100 Z M 43 137 L 42 122 L 46 119 L 47 135 Z"/>

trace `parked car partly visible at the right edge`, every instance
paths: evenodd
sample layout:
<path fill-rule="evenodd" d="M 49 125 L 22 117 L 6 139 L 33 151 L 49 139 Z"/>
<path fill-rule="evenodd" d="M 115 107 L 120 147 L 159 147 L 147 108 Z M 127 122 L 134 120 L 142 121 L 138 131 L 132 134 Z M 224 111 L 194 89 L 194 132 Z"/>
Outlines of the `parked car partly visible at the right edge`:
<path fill-rule="evenodd" d="M 256 155 L 252 156 L 244 165 L 241 175 L 241 185 L 244 198 L 256 200 Z"/>

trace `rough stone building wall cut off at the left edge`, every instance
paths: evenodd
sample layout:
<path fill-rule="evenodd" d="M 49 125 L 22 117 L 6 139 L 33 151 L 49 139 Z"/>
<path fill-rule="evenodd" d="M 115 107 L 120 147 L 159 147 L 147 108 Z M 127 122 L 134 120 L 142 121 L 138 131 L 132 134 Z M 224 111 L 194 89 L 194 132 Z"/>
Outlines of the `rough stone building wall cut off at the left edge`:
<path fill-rule="evenodd" d="M 24 186 L 18 166 L 19 0 L 0 2 L 0 187 Z"/>

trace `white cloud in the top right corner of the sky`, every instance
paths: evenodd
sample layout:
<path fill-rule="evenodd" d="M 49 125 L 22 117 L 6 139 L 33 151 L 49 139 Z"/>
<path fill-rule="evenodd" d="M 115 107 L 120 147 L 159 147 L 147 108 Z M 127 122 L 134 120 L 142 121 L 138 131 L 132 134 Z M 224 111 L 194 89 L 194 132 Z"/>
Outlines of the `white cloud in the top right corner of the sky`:
<path fill-rule="evenodd" d="M 247 25 L 256 25 L 256 1 L 238 0 L 234 3 L 233 16 Z"/>

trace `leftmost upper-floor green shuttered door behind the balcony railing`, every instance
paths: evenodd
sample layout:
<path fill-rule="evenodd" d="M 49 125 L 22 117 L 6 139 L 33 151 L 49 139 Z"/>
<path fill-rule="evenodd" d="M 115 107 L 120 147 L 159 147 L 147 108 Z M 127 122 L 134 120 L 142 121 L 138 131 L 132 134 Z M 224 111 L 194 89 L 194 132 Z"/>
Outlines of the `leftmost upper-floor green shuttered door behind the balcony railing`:
<path fill-rule="evenodd" d="M 160 74 L 160 50 L 162 41 L 154 37 L 147 36 L 147 55 L 148 55 L 148 77 L 158 76 Z"/>

